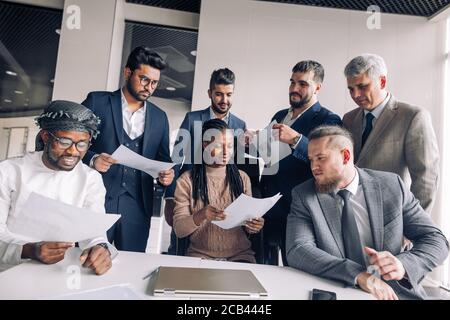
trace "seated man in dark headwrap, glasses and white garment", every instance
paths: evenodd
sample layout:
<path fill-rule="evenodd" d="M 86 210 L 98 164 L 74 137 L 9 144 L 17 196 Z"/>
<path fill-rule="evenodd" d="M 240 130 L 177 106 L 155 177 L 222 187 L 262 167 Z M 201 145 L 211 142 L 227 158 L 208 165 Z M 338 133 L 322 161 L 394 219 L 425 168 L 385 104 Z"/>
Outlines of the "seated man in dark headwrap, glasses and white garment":
<path fill-rule="evenodd" d="M 17 217 L 34 192 L 93 212 L 105 213 L 105 187 L 100 174 L 80 160 L 98 134 L 99 119 L 86 107 L 53 101 L 36 118 L 41 131 L 36 151 L 0 163 L 0 271 L 27 259 L 45 264 L 64 259 L 70 242 L 35 242 L 9 232 L 7 221 Z M 103 274 L 111 268 L 117 250 L 106 235 L 80 241 L 80 263 Z"/>

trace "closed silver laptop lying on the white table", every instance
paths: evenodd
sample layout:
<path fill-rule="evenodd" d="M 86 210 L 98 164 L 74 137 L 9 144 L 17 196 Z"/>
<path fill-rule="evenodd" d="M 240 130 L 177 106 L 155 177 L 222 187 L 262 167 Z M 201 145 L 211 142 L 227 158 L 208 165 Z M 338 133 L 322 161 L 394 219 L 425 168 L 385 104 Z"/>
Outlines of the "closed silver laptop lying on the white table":
<path fill-rule="evenodd" d="M 155 270 L 155 296 L 263 298 L 267 291 L 250 270 L 161 266 Z"/>

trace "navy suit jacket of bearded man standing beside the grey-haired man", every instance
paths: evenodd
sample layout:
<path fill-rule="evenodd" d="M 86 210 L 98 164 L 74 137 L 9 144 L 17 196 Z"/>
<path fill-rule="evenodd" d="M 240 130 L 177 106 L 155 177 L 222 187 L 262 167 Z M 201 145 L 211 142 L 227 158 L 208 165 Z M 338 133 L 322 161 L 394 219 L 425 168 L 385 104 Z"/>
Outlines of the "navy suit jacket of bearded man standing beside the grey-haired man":
<path fill-rule="evenodd" d="M 272 118 L 281 123 L 289 109 L 278 111 Z M 341 118 L 322 107 L 319 102 L 312 105 L 291 126 L 292 129 L 302 134 L 302 138 L 293 150 L 292 154 L 281 160 L 278 172 L 275 175 L 263 175 L 261 188 L 264 197 L 271 197 L 280 192 L 283 197 L 277 205 L 269 211 L 267 218 L 275 218 L 274 215 L 282 215 L 285 219 L 290 210 L 292 189 L 306 180 L 312 178 L 308 161 L 308 135 L 315 127 L 322 124 L 342 125 Z"/>

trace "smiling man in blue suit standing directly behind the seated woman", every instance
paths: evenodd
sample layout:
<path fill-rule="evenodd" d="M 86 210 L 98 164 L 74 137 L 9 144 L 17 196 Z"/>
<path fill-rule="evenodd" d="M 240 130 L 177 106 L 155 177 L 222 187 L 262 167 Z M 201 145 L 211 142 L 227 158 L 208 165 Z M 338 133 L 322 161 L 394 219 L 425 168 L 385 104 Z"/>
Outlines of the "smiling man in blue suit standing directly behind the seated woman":
<path fill-rule="evenodd" d="M 172 161 L 181 163 L 185 157 L 185 164 L 178 170 L 176 176 L 179 177 L 183 172 L 191 170 L 195 163 L 201 163 L 202 157 L 202 125 L 210 119 L 221 119 L 228 124 L 230 129 L 234 130 L 236 140 L 238 136 L 244 134 L 246 124 L 230 112 L 233 104 L 235 75 L 228 68 L 214 70 L 211 74 L 209 82 L 208 96 L 211 99 L 211 105 L 198 111 L 188 112 L 181 124 L 174 150 L 172 153 Z M 237 141 L 236 141 L 237 142 Z M 237 146 L 237 143 L 235 143 Z M 243 146 L 241 144 L 241 146 Z M 244 148 L 242 150 L 244 151 Z M 235 163 L 240 170 L 245 171 L 250 177 L 252 183 L 253 196 L 259 196 L 259 165 L 257 160 L 250 161 L 244 159 L 243 152 L 236 152 Z M 165 216 L 167 223 L 172 225 L 175 192 L 175 184 L 172 184 L 166 191 Z M 172 232 L 171 246 L 169 253 L 176 253 L 175 235 Z"/>

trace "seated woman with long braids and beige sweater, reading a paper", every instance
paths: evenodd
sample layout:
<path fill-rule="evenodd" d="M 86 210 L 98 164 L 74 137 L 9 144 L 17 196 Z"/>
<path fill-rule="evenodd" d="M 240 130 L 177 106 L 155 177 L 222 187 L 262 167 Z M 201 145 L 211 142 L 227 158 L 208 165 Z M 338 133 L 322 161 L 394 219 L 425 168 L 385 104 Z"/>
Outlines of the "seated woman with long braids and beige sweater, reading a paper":
<path fill-rule="evenodd" d="M 174 231 L 179 238 L 190 237 L 188 256 L 255 263 L 248 236 L 261 230 L 263 218 L 228 230 L 211 223 L 226 219 L 223 210 L 239 195 L 251 196 L 249 177 L 230 163 L 233 133 L 224 121 L 213 119 L 203 124 L 202 137 L 202 163 L 177 180 Z"/>

